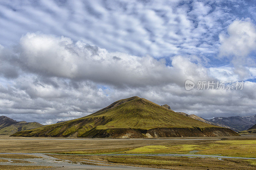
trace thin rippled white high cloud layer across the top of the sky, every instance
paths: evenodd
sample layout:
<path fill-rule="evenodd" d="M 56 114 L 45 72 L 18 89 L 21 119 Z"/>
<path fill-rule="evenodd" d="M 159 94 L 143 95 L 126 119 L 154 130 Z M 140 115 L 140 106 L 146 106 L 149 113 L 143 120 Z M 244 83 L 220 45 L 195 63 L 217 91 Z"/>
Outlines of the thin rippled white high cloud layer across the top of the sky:
<path fill-rule="evenodd" d="M 225 1 L 196 0 L 3 1 L 0 43 L 10 46 L 21 35 L 40 31 L 75 41 L 82 39 L 109 52 L 158 58 L 214 56 L 219 45 L 216 37 L 234 18 L 222 7 L 223 3 L 225 6 Z"/>

